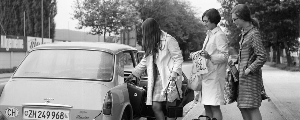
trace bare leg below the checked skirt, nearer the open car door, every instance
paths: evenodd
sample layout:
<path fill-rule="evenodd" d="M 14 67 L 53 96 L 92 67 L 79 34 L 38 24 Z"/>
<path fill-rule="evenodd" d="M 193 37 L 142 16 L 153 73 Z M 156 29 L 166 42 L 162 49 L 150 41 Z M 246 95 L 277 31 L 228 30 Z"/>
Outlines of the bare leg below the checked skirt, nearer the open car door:
<path fill-rule="evenodd" d="M 163 114 L 163 102 L 152 102 L 152 110 L 154 112 L 156 120 L 165 120 L 165 115 Z"/>

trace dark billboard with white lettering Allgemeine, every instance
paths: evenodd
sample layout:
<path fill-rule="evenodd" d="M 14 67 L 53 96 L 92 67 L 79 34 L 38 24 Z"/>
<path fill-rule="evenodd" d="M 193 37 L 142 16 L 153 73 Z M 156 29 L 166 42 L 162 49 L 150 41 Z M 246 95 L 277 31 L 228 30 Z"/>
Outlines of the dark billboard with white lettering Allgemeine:
<path fill-rule="evenodd" d="M 0 52 L 26 52 L 26 50 L 26 37 L 14 35 L 0 36 Z"/>

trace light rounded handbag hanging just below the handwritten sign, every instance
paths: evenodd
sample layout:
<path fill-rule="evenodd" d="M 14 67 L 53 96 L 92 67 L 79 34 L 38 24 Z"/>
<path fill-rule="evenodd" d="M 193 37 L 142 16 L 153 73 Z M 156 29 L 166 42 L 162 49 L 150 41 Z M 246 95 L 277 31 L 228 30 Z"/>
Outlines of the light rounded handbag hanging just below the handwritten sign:
<path fill-rule="evenodd" d="M 187 87 L 192 89 L 193 91 L 201 91 L 202 76 L 197 75 L 196 72 L 193 71 L 193 69 L 194 65 L 192 67 L 190 78 L 187 79 Z"/>

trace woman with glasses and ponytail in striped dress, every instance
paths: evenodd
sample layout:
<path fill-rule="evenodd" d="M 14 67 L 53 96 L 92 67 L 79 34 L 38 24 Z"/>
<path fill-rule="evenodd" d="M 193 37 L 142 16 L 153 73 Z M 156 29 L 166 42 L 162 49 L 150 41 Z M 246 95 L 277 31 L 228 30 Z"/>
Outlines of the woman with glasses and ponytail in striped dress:
<path fill-rule="evenodd" d="M 251 18 L 250 9 L 245 4 L 238 4 L 230 13 L 233 23 L 242 28 L 240 51 L 232 63 L 238 63 L 239 70 L 237 107 L 244 120 L 261 120 L 261 68 L 267 61 L 267 53 L 258 31 L 259 22 Z"/>

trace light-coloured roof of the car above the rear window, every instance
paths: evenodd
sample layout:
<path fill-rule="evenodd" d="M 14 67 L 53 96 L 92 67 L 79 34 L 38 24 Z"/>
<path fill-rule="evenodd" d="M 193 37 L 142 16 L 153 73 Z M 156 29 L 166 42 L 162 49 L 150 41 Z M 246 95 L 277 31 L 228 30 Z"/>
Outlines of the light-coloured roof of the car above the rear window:
<path fill-rule="evenodd" d="M 129 45 L 108 43 L 108 42 L 52 42 L 52 43 L 39 45 L 37 47 L 34 47 L 32 50 L 47 49 L 47 48 L 93 49 L 93 50 L 107 51 L 113 54 L 117 54 L 118 52 L 123 50 L 138 51 L 138 49 L 131 47 Z"/>

